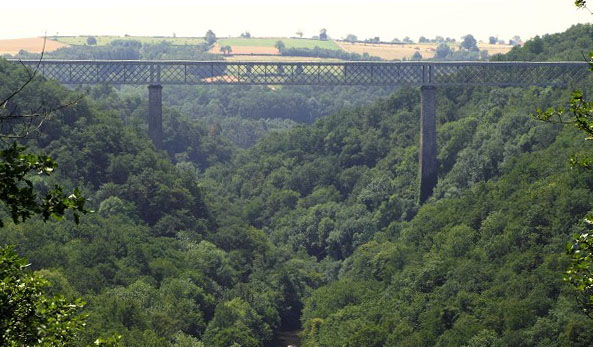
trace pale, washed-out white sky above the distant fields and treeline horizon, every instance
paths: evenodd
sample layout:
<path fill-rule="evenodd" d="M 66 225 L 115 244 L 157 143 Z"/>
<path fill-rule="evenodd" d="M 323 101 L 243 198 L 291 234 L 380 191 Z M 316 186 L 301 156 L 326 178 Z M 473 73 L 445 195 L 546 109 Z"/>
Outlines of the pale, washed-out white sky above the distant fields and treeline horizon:
<path fill-rule="evenodd" d="M 21 0 L 2 4 L 0 38 L 48 35 L 217 36 L 353 33 L 384 41 L 471 33 L 523 39 L 593 20 L 573 0 Z"/>

